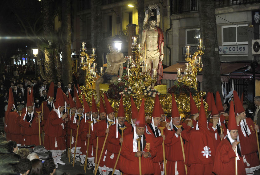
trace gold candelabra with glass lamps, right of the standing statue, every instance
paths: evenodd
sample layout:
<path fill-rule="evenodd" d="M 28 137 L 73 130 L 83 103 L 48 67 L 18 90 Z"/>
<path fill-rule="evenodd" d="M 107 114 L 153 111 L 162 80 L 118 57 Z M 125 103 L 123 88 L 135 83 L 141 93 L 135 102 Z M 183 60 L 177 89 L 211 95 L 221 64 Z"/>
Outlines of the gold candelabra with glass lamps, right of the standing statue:
<path fill-rule="evenodd" d="M 184 70 L 184 76 L 181 75 L 181 68 L 177 68 L 177 76 L 176 80 L 178 82 L 181 82 L 185 84 L 186 86 L 193 87 L 197 90 L 197 72 L 202 72 L 203 64 L 202 64 L 202 55 L 204 54 L 203 50 L 203 40 L 201 38 L 198 38 L 199 45 L 198 50 L 192 55 L 190 53 L 190 46 L 186 47 L 186 53 L 185 53 L 185 60 L 188 61 L 188 63 L 185 63 L 185 70 Z M 198 56 L 200 55 L 200 56 Z"/>

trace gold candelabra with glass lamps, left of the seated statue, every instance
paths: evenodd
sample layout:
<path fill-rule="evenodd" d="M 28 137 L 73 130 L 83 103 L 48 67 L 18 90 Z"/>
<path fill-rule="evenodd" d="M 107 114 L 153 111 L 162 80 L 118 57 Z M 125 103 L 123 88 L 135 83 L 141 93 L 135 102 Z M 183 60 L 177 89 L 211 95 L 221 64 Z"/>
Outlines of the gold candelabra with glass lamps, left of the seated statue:
<path fill-rule="evenodd" d="M 85 77 L 85 84 L 86 87 L 91 88 L 91 80 L 96 76 L 96 71 L 97 71 L 97 64 L 93 63 L 96 60 L 96 54 L 95 54 L 95 48 L 92 48 L 91 56 L 86 53 L 86 43 L 82 42 L 81 43 L 81 52 L 80 52 L 80 59 L 81 62 L 80 64 L 82 65 L 82 69 L 86 70 L 86 77 Z M 93 66 L 91 66 L 93 63 Z"/>

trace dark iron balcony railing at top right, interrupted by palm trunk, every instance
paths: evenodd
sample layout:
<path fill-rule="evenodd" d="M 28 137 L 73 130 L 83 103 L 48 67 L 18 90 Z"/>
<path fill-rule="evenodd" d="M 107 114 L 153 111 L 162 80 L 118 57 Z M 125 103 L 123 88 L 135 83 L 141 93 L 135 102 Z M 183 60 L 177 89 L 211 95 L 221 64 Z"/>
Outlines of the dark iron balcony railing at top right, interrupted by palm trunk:
<path fill-rule="evenodd" d="M 260 0 L 214 0 L 215 8 L 259 3 Z M 198 0 L 170 0 L 170 14 L 198 11 Z"/>

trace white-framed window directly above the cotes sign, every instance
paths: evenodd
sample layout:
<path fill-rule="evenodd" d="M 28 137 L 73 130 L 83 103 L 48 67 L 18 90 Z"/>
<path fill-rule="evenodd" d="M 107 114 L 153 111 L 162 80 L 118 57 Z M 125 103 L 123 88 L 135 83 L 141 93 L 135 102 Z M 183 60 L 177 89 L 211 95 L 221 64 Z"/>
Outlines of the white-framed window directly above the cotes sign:
<path fill-rule="evenodd" d="M 248 44 L 248 25 L 222 26 L 222 45 Z"/>

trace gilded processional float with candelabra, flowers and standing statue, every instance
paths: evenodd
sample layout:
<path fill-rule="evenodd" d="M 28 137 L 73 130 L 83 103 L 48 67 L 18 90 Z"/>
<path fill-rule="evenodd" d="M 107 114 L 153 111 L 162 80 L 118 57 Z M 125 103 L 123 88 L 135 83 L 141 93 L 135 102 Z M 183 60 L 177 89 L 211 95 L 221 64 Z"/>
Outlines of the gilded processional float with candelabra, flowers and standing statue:
<path fill-rule="evenodd" d="M 119 70 L 116 70 L 116 74 L 114 74 L 112 77 L 112 80 L 114 79 L 114 81 L 110 81 L 110 83 L 114 82 L 112 84 L 104 84 L 106 83 L 104 82 L 104 79 L 107 78 L 101 79 L 103 81 L 98 79 L 99 77 L 104 77 L 106 72 L 104 72 L 104 68 L 101 67 L 99 74 L 97 73 L 97 64 L 95 63 L 95 48 L 92 48 L 91 55 L 88 55 L 86 53 L 87 51 L 85 48 L 85 43 L 82 43 L 80 58 L 82 69 L 86 71 L 85 86 L 80 87 L 82 94 L 79 96 L 79 98 L 82 100 L 82 103 L 82 95 L 84 95 L 87 103 L 89 106 L 91 106 L 91 98 L 92 95 L 94 95 L 95 99 L 97 99 L 97 106 L 99 107 L 99 94 L 97 94 L 97 92 L 100 93 L 103 99 L 103 93 L 106 93 L 114 111 L 117 112 L 120 96 L 123 95 L 124 111 L 128 121 L 131 120 L 131 95 L 137 109 L 140 108 L 142 99 L 145 99 L 145 113 L 146 115 L 150 116 L 152 114 L 156 94 L 159 95 L 160 103 L 165 115 L 171 114 L 172 93 L 175 95 L 181 117 L 185 118 L 185 116 L 189 114 L 190 111 L 189 92 L 192 93 L 197 107 L 200 107 L 201 97 L 205 96 L 206 94 L 204 91 L 197 91 L 197 72 L 201 72 L 203 67 L 201 57 L 204 50 L 203 40 L 198 38 L 199 44 L 197 51 L 193 55 L 190 52 L 190 47 L 186 46 L 185 60 L 188 63 L 185 63 L 185 70 L 183 71 L 184 73 L 182 73 L 181 68 L 177 69 L 177 81 L 175 81 L 173 87 L 170 87 L 167 91 L 167 84 L 160 84 L 159 78 L 161 75 L 158 75 L 158 69 L 160 69 L 161 60 L 163 59 L 163 57 L 161 57 L 163 56 L 163 50 L 158 51 L 161 53 L 154 51 L 151 52 L 149 50 L 152 49 L 151 45 L 154 45 L 154 42 L 159 42 L 159 40 L 156 38 L 156 41 L 149 41 L 149 38 L 145 38 L 147 33 L 149 35 L 156 35 L 156 33 L 158 33 L 157 37 L 160 37 L 160 28 L 156 26 L 155 18 L 150 17 L 148 22 L 149 26 L 146 30 L 143 30 L 142 41 L 140 44 L 138 43 L 137 37 L 132 37 L 132 56 L 124 57 L 120 51 L 117 51 L 116 48 L 113 47 L 113 44 L 108 45 L 111 54 L 110 56 L 107 55 L 108 65 L 116 65 L 113 61 L 112 63 L 109 63 L 109 59 L 118 59 L 119 61 L 117 65 L 124 65 L 124 69 L 119 68 Z M 163 48 L 163 44 L 160 44 L 161 43 L 156 43 L 156 46 L 158 45 L 159 48 L 162 46 Z M 153 57 L 156 56 L 157 63 L 156 59 L 152 60 Z M 151 65 L 151 63 L 153 64 Z M 158 66 L 158 68 L 156 66 Z M 110 68 L 108 69 L 110 70 Z M 118 71 L 120 72 L 119 76 L 117 76 Z M 108 73 L 108 77 L 111 77 L 111 72 Z M 208 104 L 205 101 L 203 102 L 205 104 L 206 110 L 208 108 Z"/>

